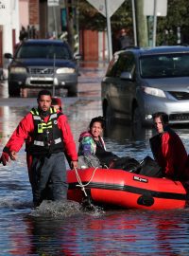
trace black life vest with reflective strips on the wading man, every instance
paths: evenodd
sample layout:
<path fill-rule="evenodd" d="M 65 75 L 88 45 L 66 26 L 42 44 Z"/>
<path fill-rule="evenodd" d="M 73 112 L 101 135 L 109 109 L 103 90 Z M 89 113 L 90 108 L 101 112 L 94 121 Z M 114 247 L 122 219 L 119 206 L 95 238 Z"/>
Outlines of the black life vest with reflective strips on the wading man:
<path fill-rule="evenodd" d="M 58 118 L 62 113 L 57 113 L 54 108 L 50 108 L 50 117 L 46 123 L 37 109 L 32 108 L 30 113 L 33 116 L 34 133 L 26 151 L 31 155 L 48 155 L 64 151 L 61 131 L 58 127 Z"/>

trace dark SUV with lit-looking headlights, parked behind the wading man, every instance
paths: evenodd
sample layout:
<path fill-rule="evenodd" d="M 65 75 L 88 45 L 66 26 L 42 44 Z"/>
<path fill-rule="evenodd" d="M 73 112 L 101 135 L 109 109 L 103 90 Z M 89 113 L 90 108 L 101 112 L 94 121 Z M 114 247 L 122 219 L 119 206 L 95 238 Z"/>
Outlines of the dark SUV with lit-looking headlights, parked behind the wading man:
<path fill-rule="evenodd" d="M 67 43 L 60 40 L 26 40 L 9 64 L 9 96 L 20 95 L 21 88 L 66 88 L 77 96 L 78 68 Z"/>

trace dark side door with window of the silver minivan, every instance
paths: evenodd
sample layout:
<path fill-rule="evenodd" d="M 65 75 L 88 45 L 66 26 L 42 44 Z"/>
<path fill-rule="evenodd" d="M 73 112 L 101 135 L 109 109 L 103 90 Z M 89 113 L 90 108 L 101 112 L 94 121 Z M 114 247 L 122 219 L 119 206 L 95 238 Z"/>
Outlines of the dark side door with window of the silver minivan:
<path fill-rule="evenodd" d="M 135 73 L 135 58 L 131 52 L 120 54 L 114 72 L 112 81 L 113 109 L 117 117 L 131 117 L 131 106 L 135 97 L 135 82 L 133 79 Z M 130 77 L 124 76 L 129 74 Z"/>

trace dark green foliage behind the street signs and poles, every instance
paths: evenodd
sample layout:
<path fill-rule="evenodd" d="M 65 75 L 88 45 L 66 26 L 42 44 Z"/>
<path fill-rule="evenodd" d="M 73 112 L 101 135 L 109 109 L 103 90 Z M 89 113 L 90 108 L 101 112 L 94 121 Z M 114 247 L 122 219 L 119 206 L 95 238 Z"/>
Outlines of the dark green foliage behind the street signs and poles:
<path fill-rule="evenodd" d="M 116 1 L 116 0 L 115 0 Z M 139 1 L 139 0 L 136 0 Z M 189 44 L 189 1 L 168 0 L 167 16 L 157 18 L 157 46 L 177 45 L 177 29 L 180 27 L 181 43 Z M 107 27 L 106 18 L 86 0 L 78 1 L 79 28 L 102 31 Z M 112 33 L 122 27 L 132 34 L 131 0 L 126 0 L 111 17 Z M 153 26 L 152 26 L 153 27 Z M 152 27 L 149 27 L 152 29 Z"/>

